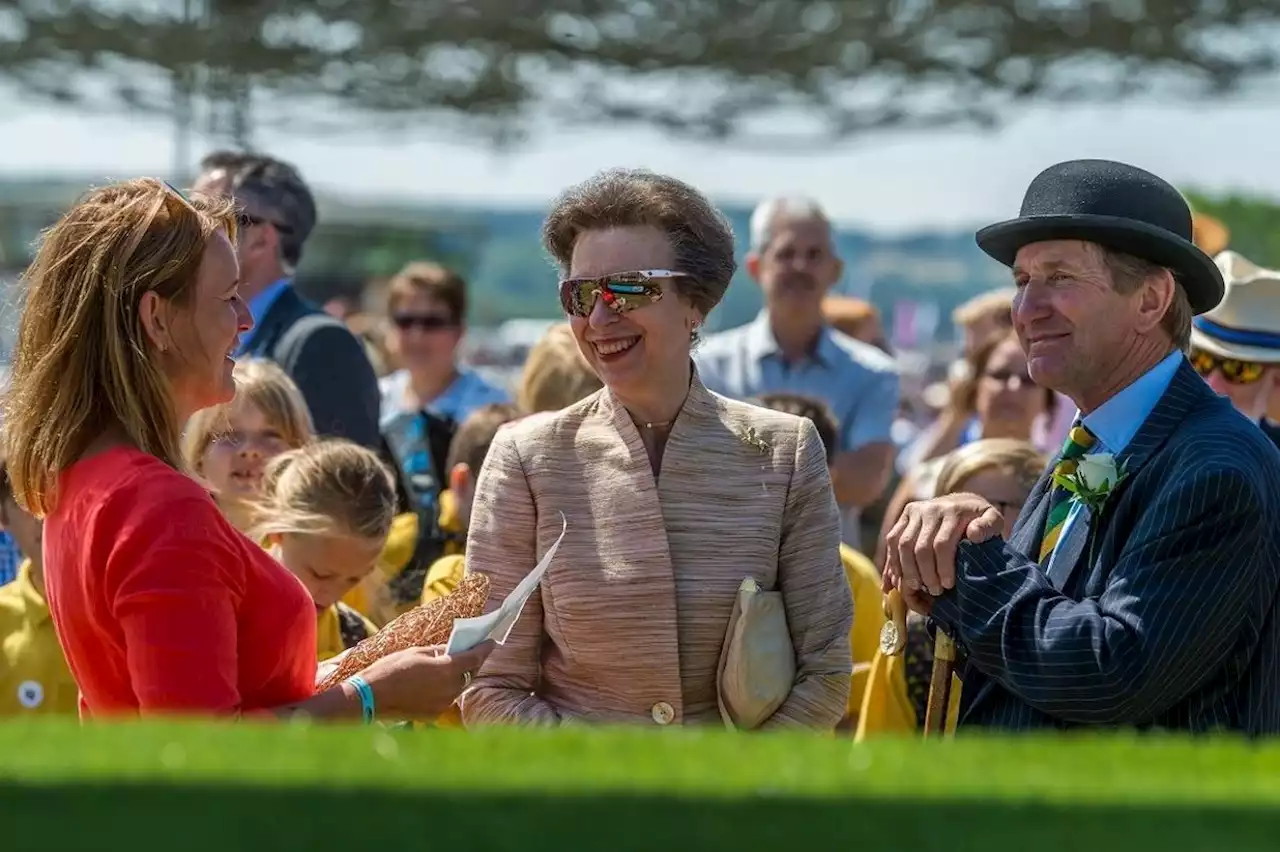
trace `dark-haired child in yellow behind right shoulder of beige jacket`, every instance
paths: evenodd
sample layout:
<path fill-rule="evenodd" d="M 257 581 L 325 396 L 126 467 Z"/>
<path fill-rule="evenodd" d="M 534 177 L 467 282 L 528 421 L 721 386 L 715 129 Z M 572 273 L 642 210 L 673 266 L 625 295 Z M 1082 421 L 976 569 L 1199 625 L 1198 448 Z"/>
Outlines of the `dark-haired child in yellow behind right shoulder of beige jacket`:
<path fill-rule="evenodd" d="M 774 411 L 808 417 L 818 429 L 823 448 L 827 450 L 827 463 L 836 455 L 836 435 L 838 423 L 836 416 L 824 403 L 800 394 L 773 393 L 762 394 L 753 400 L 756 406 Z M 867 691 L 867 675 L 872 660 L 879 649 L 879 633 L 884 626 L 883 594 L 881 577 L 870 559 L 847 545 L 840 545 L 840 562 L 845 567 L 845 577 L 854 595 L 854 627 L 849 633 L 849 643 L 854 655 L 852 684 L 849 691 L 849 705 L 845 719 L 838 725 L 841 730 L 858 728 L 858 714 L 863 706 L 863 693 Z"/>

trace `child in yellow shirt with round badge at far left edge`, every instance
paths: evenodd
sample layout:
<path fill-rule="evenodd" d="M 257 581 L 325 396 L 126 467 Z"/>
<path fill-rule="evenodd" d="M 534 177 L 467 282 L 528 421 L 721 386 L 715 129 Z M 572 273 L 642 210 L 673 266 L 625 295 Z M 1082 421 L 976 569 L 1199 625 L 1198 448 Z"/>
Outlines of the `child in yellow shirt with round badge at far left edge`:
<path fill-rule="evenodd" d="M 0 586 L 0 716 L 74 714 L 79 705 L 79 688 L 45 603 L 42 526 L 13 499 L 0 459 L 0 527 L 26 556 L 18 578 Z"/>

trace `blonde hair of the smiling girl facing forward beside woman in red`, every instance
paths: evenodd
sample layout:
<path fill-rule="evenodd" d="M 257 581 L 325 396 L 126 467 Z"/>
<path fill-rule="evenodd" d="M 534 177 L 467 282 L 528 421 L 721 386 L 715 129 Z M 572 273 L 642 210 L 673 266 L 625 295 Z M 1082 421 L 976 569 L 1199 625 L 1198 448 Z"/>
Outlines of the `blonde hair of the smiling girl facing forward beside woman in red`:
<path fill-rule="evenodd" d="M 311 412 L 302 391 L 274 361 L 248 358 L 236 365 L 236 399 L 212 408 L 201 408 L 187 421 L 182 434 L 182 458 L 187 469 L 202 475 L 205 450 L 227 432 L 236 406 L 253 406 L 280 432 L 289 449 L 297 449 L 315 438 Z"/>

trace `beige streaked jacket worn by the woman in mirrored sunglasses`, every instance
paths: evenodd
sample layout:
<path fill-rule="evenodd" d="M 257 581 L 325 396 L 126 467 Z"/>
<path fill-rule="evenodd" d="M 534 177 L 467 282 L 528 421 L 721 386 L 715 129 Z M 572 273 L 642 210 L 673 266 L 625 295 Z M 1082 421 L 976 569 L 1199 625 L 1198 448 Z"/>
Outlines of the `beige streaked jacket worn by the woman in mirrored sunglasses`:
<path fill-rule="evenodd" d="M 753 446 L 749 430 L 767 448 Z M 719 722 L 716 673 L 739 585 L 781 588 L 796 649 L 771 725 L 833 728 L 852 601 L 826 455 L 808 420 L 732 402 L 695 376 L 654 481 L 605 389 L 503 429 L 476 485 L 467 569 L 489 606 L 564 541 L 507 643 L 463 698 L 468 725 Z"/>

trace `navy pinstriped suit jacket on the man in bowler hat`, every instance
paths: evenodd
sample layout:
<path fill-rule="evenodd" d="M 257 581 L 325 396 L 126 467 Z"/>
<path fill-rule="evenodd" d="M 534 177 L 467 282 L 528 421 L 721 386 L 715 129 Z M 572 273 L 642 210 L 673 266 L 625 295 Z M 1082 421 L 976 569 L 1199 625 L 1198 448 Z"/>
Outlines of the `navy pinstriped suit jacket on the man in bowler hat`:
<path fill-rule="evenodd" d="M 1048 477 L 1009 544 L 960 545 L 933 611 L 968 654 L 960 724 L 1280 732 L 1280 453 L 1184 361 L 1120 457 L 1062 576 L 1025 555 Z"/>

